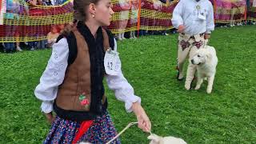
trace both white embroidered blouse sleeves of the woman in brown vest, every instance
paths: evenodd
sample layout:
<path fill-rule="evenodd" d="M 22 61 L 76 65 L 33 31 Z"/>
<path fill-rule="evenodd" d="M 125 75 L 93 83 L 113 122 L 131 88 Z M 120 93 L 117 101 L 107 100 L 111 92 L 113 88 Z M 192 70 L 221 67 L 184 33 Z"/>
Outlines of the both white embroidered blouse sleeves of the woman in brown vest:
<path fill-rule="evenodd" d="M 114 40 L 114 50 L 117 50 L 117 43 Z M 53 51 L 50 60 L 40 78 L 40 83 L 34 90 L 36 98 L 42 101 L 41 109 L 44 113 L 50 113 L 53 110 L 54 99 L 58 93 L 58 86 L 62 84 L 68 65 L 67 59 L 69 48 L 66 38 L 62 38 L 53 45 Z M 118 59 L 120 61 L 120 59 Z M 134 89 L 127 82 L 122 74 L 122 70 L 117 75 L 106 74 L 106 82 L 110 90 L 114 90 L 115 97 L 125 102 L 127 112 L 131 112 L 133 102 L 141 103 L 141 98 L 134 95 Z"/>

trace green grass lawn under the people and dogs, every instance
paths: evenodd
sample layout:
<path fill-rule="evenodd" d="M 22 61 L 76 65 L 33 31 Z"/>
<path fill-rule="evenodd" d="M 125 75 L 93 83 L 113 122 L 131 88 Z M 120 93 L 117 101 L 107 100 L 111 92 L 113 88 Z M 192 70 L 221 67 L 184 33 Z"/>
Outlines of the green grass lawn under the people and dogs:
<path fill-rule="evenodd" d="M 212 94 L 206 82 L 186 91 L 176 80 L 177 34 L 146 36 L 118 42 L 122 71 L 142 98 L 152 133 L 183 138 L 188 143 L 256 143 L 256 26 L 217 29 L 210 46 L 218 54 Z M 50 130 L 34 88 L 51 50 L 0 54 L 0 143 L 41 143 Z M 118 131 L 134 114 L 107 90 L 109 111 Z M 149 143 L 133 126 L 122 143 Z"/>

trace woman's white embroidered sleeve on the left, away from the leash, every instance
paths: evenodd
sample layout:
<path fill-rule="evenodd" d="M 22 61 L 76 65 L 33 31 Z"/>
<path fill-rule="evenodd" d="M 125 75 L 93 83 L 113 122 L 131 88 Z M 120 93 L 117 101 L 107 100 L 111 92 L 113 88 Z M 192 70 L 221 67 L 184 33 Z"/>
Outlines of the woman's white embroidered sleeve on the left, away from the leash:
<path fill-rule="evenodd" d="M 34 90 L 35 97 L 42 101 L 42 112 L 46 114 L 53 110 L 53 102 L 57 96 L 58 86 L 64 80 L 68 55 L 68 43 L 66 38 L 62 38 L 58 43 L 54 44 L 46 70 Z"/>

